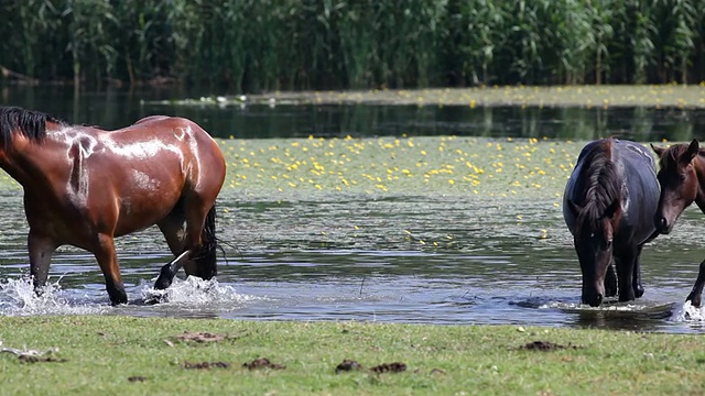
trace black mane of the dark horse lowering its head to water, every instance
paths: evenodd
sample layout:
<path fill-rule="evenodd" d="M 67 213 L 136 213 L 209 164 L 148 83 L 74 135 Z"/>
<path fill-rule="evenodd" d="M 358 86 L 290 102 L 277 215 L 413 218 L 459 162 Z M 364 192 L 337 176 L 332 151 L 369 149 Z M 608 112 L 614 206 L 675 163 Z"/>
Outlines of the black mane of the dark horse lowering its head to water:
<path fill-rule="evenodd" d="M 607 145 L 607 147 L 605 147 Z M 617 167 L 611 161 L 611 141 L 599 144 L 585 155 L 581 169 L 584 205 L 577 217 L 578 230 L 588 226 L 590 230 L 601 229 L 600 220 L 605 210 L 621 197 L 621 183 Z"/>

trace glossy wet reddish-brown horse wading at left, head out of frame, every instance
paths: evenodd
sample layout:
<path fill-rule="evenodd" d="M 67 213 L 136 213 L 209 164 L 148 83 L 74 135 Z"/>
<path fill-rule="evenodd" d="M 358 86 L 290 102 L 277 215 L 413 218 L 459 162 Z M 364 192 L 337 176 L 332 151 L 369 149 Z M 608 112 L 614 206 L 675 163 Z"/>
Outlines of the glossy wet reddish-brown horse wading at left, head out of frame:
<path fill-rule="evenodd" d="M 24 189 L 35 290 L 54 251 L 91 252 L 113 305 L 127 302 L 115 237 L 156 224 L 176 256 L 154 287 L 187 275 L 216 275 L 215 200 L 226 165 L 217 143 L 193 121 L 153 116 L 116 131 L 70 125 L 0 107 L 0 167 Z"/>

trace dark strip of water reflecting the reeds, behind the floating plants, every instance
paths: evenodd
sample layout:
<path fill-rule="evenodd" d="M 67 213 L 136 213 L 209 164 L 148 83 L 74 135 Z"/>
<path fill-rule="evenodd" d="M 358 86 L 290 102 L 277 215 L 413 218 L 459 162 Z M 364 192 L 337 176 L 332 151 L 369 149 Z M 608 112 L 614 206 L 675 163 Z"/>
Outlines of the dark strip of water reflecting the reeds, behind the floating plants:
<path fill-rule="evenodd" d="M 463 106 L 177 106 L 151 101 L 198 97 L 176 89 L 108 89 L 75 96 L 67 87 L 4 87 L 1 103 L 50 112 L 74 123 L 117 129 L 162 113 L 191 118 L 220 138 L 474 135 L 687 141 L 705 130 L 705 110 Z"/>

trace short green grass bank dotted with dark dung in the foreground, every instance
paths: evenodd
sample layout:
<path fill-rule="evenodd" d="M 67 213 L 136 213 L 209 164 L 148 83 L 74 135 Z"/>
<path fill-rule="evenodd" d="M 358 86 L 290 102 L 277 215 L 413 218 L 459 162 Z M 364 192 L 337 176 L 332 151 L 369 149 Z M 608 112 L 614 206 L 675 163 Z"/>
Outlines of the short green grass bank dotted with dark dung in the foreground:
<path fill-rule="evenodd" d="M 2 394 L 565 395 L 702 394 L 705 338 L 512 326 L 261 322 L 126 317 L 0 318 L 3 346 L 44 350 L 59 362 L 0 354 Z M 178 341 L 184 332 L 229 338 Z M 530 351 L 546 341 L 565 346 Z M 268 358 L 284 370 L 242 367 Z M 336 374 L 345 359 L 402 373 Z M 227 369 L 187 370 L 186 362 Z M 133 376 L 143 381 L 131 382 Z"/>

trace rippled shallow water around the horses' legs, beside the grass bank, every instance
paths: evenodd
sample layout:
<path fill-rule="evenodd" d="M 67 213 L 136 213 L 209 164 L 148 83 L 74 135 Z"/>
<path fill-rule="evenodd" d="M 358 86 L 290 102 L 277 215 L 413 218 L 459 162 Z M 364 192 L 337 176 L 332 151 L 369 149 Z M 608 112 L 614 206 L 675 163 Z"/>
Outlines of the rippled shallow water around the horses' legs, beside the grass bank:
<path fill-rule="evenodd" d="M 21 201 L 1 198 L 0 314 L 132 315 L 229 319 L 513 323 L 705 332 L 705 311 L 683 305 L 705 256 L 698 212 L 644 249 L 647 293 L 632 306 L 579 306 L 581 273 L 552 201 L 455 197 L 339 197 L 267 202 L 228 198 L 215 282 L 183 279 L 145 305 L 169 261 L 156 230 L 119 240 L 131 304 L 110 307 L 90 255 L 62 249 L 42 296 L 31 290 Z M 355 208 L 352 211 L 351 208 Z M 237 216 L 235 215 L 237 213 Z M 521 215 L 521 221 L 518 220 Z M 480 221 L 488 227 L 479 227 Z M 545 231 L 543 231 L 545 230 Z M 684 237 L 693 239 L 684 243 Z M 160 252 L 160 253 L 155 253 Z M 674 255 L 673 252 L 679 252 Z M 662 306 L 673 305 L 666 312 Z M 654 315 L 644 308 L 658 306 Z"/>

